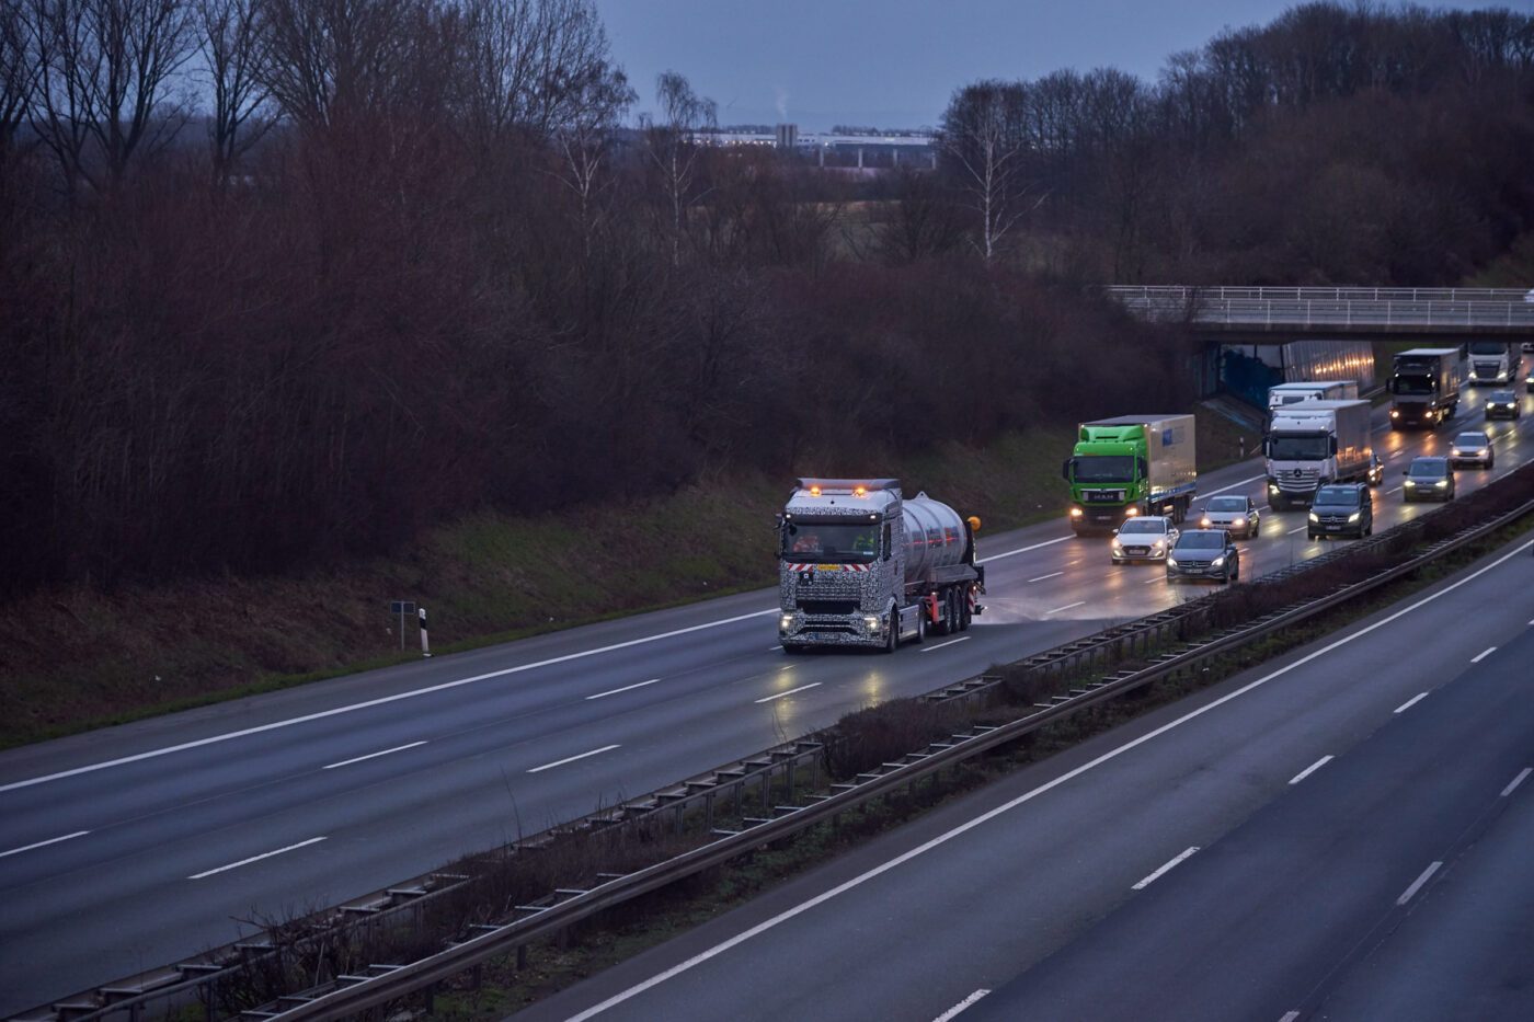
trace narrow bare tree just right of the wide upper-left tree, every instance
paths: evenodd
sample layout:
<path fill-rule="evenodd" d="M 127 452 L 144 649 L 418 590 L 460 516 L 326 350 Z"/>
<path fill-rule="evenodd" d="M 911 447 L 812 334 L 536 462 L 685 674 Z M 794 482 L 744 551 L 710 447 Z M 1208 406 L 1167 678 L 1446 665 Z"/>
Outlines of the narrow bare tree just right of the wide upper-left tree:
<path fill-rule="evenodd" d="M 213 86 L 209 144 L 219 184 L 275 123 L 265 84 L 270 37 L 264 8 L 265 0 L 196 0 L 198 48 Z"/>

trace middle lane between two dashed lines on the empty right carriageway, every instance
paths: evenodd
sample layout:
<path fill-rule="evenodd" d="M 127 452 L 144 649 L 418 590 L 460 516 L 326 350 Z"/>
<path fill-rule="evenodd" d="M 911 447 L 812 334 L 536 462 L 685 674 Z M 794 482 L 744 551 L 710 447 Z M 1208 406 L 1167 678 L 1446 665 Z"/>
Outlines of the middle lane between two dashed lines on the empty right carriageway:
<path fill-rule="evenodd" d="M 1529 635 L 1520 645 L 1534 652 Z M 1516 655 L 1476 664 L 1434 695 L 1431 712 L 1397 715 L 996 990 L 973 1017 L 1213 1022 L 1304 1014 L 1312 991 L 1339 968 L 1350 970 L 1373 944 L 1393 944 L 1390 931 L 1413 901 L 1428 884 L 1448 882 L 1457 856 L 1500 809 L 1503 787 L 1529 764 L 1526 664 Z M 1525 847 L 1525 872 L 1526 862 Z M 1525 907 L 1503 901 L 1490 921 L 1460 921 L 1470 924 L 1467 939 L 1486 942 L 1485 931 L 1474 935 L 1477 922 L 1511 916 L 1526 927 Z M 1436 956 L 1397 956 L 1396 964 L 1397 976 L 1431 976 L 1437 997 L 1456 1005 L 1450 1014 L 1465 1014 L 1474 993 L 1467 976 L 1442 968 Z M 1101 984 L 1094 970 L 1108 970 L 1114 982 Z M 1531 979 L 1534 959 L 1523 959 L 1514 982 Z M 1405 1014 L 1341 1017 L 1445 1016 L 1414 1002 Z"/>

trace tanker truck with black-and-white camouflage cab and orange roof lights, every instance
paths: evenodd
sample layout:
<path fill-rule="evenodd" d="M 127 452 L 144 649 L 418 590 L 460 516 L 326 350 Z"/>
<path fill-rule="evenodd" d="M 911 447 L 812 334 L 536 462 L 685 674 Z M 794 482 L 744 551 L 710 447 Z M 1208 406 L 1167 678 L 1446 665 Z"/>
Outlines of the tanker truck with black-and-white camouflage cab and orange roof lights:
<path fill-rule="evenodd" d="M 778 516 L 778 641 L 894 652 L 983 612 L 980 519 L 897 479 L 801 479 Z"/>

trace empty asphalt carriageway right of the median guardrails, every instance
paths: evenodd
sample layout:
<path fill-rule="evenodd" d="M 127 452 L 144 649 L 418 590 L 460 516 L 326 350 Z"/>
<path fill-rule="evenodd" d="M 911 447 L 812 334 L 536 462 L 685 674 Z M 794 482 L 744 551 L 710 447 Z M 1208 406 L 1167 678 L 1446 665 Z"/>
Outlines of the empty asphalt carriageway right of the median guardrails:
<path fill-rule="evenodd" d="M 1529 548 L 517 1017 L 1534 1017 Z"/>

